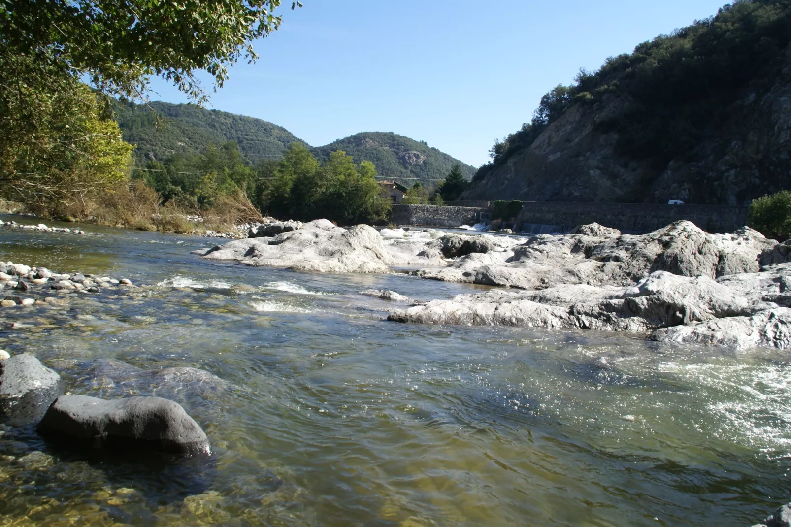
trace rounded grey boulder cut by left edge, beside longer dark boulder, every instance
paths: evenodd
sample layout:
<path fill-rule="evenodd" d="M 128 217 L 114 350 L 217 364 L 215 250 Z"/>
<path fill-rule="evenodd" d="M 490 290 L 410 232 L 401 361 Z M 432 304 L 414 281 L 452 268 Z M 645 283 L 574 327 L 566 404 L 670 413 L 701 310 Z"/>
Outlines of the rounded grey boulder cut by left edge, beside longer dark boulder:
<path fill-rule="evenodd" d="M 36 357 L 19 354 L 0 361 L 0 417 L 13 424 L 40 419 L 63 392 L 63 381 Z"/>

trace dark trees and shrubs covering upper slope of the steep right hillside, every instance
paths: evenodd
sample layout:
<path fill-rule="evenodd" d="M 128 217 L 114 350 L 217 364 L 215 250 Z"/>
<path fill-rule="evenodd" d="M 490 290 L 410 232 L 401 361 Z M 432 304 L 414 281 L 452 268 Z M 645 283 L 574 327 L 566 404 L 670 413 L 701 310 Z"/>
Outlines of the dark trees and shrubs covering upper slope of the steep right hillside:
<path fill-rule="evenodd" d="M 551 89 L 530 123 L 494 142 L 491 161 L 474 181 L 529 148 L 573 105 L 616 99 L 623 104 L 600 127 L 618 133 L 619 154 L 657 167 L 676 158 L 689 161 L 745 88 L 760 93 L 773 84 L 789 43 L 791 0 L 733 2 L 713 17 L 639 44 L 631 54 L 610 57 L 595 72 L 581 70 L 572 85 Z"/>

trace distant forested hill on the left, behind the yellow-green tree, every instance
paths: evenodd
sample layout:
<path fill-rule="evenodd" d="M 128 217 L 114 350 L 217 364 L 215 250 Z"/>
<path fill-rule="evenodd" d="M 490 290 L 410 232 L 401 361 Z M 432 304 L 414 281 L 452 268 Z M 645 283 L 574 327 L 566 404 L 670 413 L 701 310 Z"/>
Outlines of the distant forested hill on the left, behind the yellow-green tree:
<path fill-rule="evenodd" d="M 193 104 L 115 104 L 123 138 L 137 145 L 137 161 L 162 161 L 172 154 L 199 154 L 208 144 L 235 141 L 250 161 L 277 159 L 293 142 L 307 144 L 286 128 L 254 117 L 207 110 Z M 151 111 L 153 108 L 154 112 Z M 157 129 L 157 116 L 161 126 Z"/>

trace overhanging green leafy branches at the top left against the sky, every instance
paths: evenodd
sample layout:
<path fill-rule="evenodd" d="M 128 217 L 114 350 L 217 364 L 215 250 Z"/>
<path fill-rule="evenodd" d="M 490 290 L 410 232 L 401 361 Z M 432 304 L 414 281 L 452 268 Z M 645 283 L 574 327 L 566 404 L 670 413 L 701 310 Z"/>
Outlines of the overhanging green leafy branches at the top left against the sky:
<path fill-rule="evenodd" d="M 106 93 L 139 97 L 157 75 L 200 102 L 195 71 L 206 70 L 220 87 L 229 65 L 257 59 L 252 42 L 280 27 L 272 12 L 281 3 L 0 0 L 0 47 L 49 57 L 61 74 L 87 75 Z"/>

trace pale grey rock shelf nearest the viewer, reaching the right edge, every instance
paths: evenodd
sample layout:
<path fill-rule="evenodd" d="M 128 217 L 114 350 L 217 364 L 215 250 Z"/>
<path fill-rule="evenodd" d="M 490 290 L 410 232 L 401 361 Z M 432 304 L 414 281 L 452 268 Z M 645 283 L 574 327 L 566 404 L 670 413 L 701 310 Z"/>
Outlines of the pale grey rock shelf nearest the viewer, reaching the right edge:
<path fill-rule="evenodd" d="M 644 332 L 654 339 L 791 347 L 791 264 L 724 279 L 654 271 L 636 286 L 490 290 L 396 310 L 388 320 Z"/>

